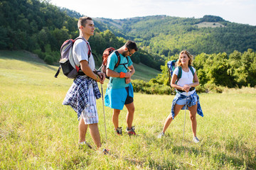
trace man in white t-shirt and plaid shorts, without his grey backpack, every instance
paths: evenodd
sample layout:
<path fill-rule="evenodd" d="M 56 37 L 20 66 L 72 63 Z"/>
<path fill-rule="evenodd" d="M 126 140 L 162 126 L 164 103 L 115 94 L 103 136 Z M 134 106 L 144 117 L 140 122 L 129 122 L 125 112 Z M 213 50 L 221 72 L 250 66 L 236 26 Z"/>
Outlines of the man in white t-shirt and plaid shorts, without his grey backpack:
<path fill-rule="evenodd" d="M 94 34 L 95 25 L 90 17 L 82 17 L 78 20 L 78 29 L 80 38 L 75 40 L 73 45 L 73 58 L 75 64 L 82 70 L 85 75 L 78 75 L 73 81 L 72 86 L 65 96 L 63 105 L 71 106 L 78 113 L 79 144 L 87 145 L 85 135 L 87 128 L 90 129 L 92 140 L 97 145 L 97 149 L 101 147 L 100 132 L 98 129 L 98 115 L 96 108 L 96 98 L 100 98 L 100 90 L 97 82 L 103 84 L 105 74 L 97 72 L 95 69 L 95 61 L 93 59 L 90 45 L 87 40 Z"/>

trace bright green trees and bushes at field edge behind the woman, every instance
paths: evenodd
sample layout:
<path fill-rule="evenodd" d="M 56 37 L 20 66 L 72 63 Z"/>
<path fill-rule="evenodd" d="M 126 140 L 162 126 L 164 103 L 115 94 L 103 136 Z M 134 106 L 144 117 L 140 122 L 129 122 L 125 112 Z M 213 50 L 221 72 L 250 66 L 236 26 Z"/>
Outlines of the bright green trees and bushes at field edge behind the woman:
<path fill-rule="evenodd" d="M 169 60 L 178 59 L 178 55 Z M 146 94 L 175 94 L 175 89 L 169 85 L 169 70 L 166 64 L 161 66 L 161 74 L 149 82 L 134 80 L 134 91 Z M 224 87 L 241 88 L 256 86 L 256 53 L 252 49 L 245 52 L 235 50 L 230 55 L 226 52 L 207 55 L 201 53 L 193 60 L 200 86 L 198 92 L 222 92 Z"/>

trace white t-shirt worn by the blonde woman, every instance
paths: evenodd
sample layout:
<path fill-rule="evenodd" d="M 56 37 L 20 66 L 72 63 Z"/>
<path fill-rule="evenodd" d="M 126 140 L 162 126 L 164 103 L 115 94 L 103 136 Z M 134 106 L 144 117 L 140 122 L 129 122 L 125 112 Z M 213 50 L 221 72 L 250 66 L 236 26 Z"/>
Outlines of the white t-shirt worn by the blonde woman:
<path fill-rule="evenodd" d="M 194 73 L 196 73 L 196 69 L 194 67 L 192 67 Z M 182 74 L 181 74 L 181 79 L 178 80 L 178 86 L 184 86 L 185 84 L 192 84 L 193 83 L 193 73 L 191 72 L 191 70 L 188 68 L 188 72 L 184 72 L 183 69 L 182 70 Z M 176 69 L 174 69 L 174 74 L 176 74 L 178 76 L 178 67 L 176 67 Z M 193 91 L 188 91 L 188 96 L 190 96 L 191 94 L 193 94 L 196 91 L 196 89 L 194 89 Z M 181 94 L 186 96 L 186 92 L 182 92 Z"/>

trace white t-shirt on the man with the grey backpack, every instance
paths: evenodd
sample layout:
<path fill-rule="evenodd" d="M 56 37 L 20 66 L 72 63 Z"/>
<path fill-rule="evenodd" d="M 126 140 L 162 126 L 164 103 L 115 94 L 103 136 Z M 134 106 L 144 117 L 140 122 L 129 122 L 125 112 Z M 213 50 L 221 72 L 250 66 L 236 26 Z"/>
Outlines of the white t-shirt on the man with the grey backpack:
<path fill-rule="evenodd" d="M 80 61 L 86 60 L 87 62 L 89 62 L 89 67 L 93 71 L 95 69 L 95 60 L 93 59 L 92 52 L 90 52 L 90 58 L 88 61 L 89 48 L 85 41 L 87 42 L 87 40 L 85 40 L 85 38 L 83 38 L 83 40 L 82 39 L 75 40 L 75 43 L 73 45 L 74 62 L 79 67 Z M 87 43 L 89 44 L 89 42 L 87 42 Z M 89 46 L 90 46 L 90 44 L 89 44 Z"/>

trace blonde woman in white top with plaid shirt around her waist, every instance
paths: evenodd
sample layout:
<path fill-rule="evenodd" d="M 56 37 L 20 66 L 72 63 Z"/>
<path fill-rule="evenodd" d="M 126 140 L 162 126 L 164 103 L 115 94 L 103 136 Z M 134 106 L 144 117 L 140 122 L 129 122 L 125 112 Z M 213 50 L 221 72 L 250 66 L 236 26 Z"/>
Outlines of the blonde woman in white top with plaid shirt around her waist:
<path fill-rule="evenodd" d="M 174 120 L 181 109 L 188 109 L 192 124 L 193 142 L 199 142 L 198 137 L 196 137 L 196 112 L 203 117 L 203 111 L 201 110 L 199 96 L 196 94 L 195 87 L 199 85 L 199 81 L 196 69 L 191 66 L 192 60 L 193 56 L 186 50 L 183 50 L 178 57 L 177 67 L 171 77 L 171 86 L 176 89 L 176 96 L 171 105 L 171 113 L 166 118 L 163 131 L 158 135 L 158 138 L 164 136 L 171 121 Z M 178 79 L 179 72 L 181 74 L 180 79 Z"/>

